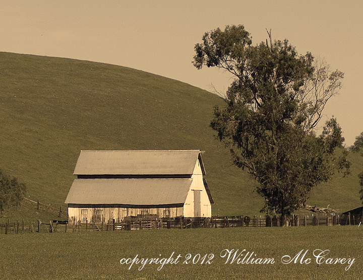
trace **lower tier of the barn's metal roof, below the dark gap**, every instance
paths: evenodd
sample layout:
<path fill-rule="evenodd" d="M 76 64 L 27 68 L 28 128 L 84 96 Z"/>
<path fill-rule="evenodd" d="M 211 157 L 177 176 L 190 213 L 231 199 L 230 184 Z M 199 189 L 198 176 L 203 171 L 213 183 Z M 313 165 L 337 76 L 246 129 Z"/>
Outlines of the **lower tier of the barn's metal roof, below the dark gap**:
<path fill-rule="evenodd" d="M 75 179 L 65 203 L 162 205 L 184 203 L 192 184 L 177 179 Z"/>

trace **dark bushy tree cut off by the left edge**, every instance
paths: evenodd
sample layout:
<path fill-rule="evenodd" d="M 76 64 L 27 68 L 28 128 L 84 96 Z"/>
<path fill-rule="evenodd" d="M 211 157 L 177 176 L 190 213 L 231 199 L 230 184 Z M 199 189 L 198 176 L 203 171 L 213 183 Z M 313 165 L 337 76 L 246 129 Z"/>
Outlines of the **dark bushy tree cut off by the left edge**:
<path fill-rule="evenodd" d="M 24 183 L 4 173 L 0 168 L 0 212 L 20 204 L 26 193 Z"/>

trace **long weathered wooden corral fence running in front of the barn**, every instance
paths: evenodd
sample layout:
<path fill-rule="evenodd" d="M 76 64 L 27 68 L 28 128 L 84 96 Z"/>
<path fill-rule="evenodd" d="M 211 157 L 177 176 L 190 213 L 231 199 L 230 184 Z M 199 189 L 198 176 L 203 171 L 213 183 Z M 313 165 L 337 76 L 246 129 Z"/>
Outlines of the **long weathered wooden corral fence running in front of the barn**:
<path fill-rule="evenodd" d="M 362 215 L 339 216 L 338 214 L 314 213 L 312 215 L 294 215 L 288 221 L 289 226 L 334 226 L 360 225 Z M 156 215 L 138 215 L 126 217 L 122 221 L 103 221 L 101 224 L 82 223 L 81 221 L 2 221 L 2 234 L 17 233 L 54 233 L 54 232 L 83 232 L 83 231 L 117 231 L 117 230 L 149 230 L 149 229 L 192 229 L 192 228 L 230 228 L 230 227 L 279 227 L 283 220 L 279 216 L 230 216 L 212 218 L 157 218 Z"/>

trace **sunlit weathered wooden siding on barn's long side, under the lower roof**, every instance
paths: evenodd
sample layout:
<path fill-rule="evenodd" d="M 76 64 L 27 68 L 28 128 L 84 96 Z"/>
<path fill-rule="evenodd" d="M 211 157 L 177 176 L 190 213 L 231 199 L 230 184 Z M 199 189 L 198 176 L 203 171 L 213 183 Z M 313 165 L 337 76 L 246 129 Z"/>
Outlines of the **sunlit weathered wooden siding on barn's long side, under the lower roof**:
<path fill-rule="evenodd" d="M 160 207 L 160 208 L 133 208 L 118 207 L 116 205 L 84 205 L 69 204 L 68 205 L 68 222 L 80 221 L 81 223 L 101 223 L 115 220 L 116 223 L 121 222 L 125 217 L 138 216 L 145 214 L 157 215 L 158 218 L 167 217 L 164 211 L 168 211 L 169 217 L 184 216 L 183 207 Z"/>

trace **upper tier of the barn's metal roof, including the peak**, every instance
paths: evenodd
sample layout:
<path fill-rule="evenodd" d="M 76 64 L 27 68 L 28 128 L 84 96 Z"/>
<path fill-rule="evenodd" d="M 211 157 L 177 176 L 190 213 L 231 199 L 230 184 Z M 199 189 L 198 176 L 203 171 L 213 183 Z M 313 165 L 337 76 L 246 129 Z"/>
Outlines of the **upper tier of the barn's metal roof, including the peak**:
<path fill-rule="evenodd" d="M 199 150 L 82 150 L 74 175 L 193 174 L 197 160 L 205 175 Z"/>

